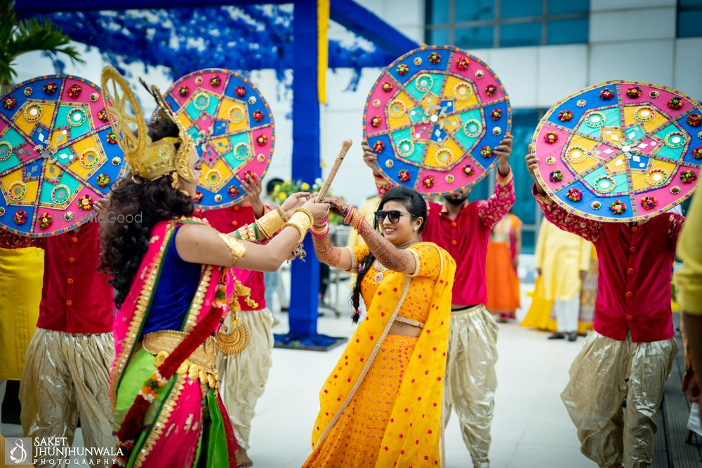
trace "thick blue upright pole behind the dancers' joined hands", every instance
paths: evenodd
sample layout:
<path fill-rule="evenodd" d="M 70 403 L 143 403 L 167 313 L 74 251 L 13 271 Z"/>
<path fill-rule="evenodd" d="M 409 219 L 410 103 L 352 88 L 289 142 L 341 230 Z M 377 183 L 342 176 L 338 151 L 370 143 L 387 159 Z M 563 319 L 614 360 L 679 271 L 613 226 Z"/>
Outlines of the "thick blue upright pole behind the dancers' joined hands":
<path fill-rule="evenodd" d="M 317 93 L 317 1 L 296 0 L 293 18 L 293 180 L 310 184 L 322 176 L 319 167 L 319 95 Z M 289 310 L 293 339 L 317 335 L 319 262 L 312 240 L 305 239 L 308 255 L 292 266 Z"/>

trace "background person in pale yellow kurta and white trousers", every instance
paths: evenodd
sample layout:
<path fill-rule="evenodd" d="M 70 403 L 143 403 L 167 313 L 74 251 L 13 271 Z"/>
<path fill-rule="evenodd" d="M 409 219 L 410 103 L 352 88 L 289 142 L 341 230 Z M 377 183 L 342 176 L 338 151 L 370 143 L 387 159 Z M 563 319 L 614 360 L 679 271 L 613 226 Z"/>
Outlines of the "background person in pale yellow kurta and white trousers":
<path fill-rule="evenodd" d="M 522 326 L 549 329 L 551 314 L 556 330 L 549 339 L 578 336 L 581 284 L 590 268 L 592 245 L 578 235 L 544 220 L 538 233 L 534 267 L 538 278 L 534 298 Z"/>

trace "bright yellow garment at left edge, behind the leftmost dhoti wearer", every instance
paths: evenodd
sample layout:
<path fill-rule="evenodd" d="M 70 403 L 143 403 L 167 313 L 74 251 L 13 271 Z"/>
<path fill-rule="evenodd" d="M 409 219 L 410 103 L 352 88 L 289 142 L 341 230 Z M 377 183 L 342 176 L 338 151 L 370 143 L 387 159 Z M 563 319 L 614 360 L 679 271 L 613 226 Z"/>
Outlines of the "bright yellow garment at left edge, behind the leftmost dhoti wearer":
<path fill-rule="evenodd" d="M 43 273 L 42 249 L 0 248 L 0 405 L 7 380 L 22 378 L 27 346 L 37 328 Z"/>

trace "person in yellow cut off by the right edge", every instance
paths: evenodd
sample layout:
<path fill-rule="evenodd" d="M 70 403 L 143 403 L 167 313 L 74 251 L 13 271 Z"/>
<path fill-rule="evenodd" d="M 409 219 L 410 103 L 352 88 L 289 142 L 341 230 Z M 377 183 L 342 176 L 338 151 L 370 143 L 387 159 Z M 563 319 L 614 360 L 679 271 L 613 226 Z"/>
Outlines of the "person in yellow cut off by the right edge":
<path fill-rule="evenodd" d="M 682 324 L 687 338 L 686 352 L 692 363 L 691 382 L 687 391 L 692 401 L 700 401 L 702 382 L 702 245 L 698 236 L 702 233 L 702 200 L 700 195 L 692 202 L 687 221 L 677 242 L 677 256 L 682 260 L 682 269 L 675 275 L 677 302 L 682 310 Z M 702 405 L 700 419 L 702 420 Z"/>

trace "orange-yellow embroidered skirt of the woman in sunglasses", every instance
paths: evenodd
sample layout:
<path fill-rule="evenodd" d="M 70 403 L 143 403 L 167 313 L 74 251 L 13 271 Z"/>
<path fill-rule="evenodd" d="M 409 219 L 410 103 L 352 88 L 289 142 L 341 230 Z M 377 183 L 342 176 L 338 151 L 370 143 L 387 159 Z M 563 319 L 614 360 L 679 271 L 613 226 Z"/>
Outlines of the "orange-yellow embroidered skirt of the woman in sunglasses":
<path fill-rule="evenodd" d="M 349 406 L 305 467 L 375 467 L 404 369 L 418 338 L 388 335 Z"/>

